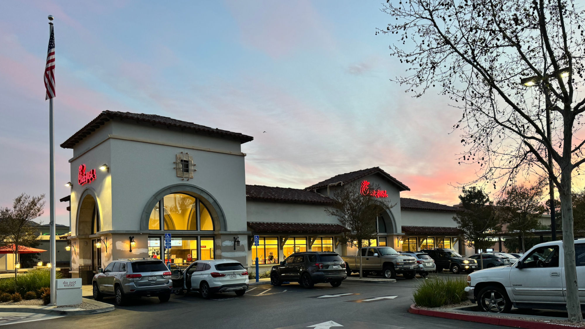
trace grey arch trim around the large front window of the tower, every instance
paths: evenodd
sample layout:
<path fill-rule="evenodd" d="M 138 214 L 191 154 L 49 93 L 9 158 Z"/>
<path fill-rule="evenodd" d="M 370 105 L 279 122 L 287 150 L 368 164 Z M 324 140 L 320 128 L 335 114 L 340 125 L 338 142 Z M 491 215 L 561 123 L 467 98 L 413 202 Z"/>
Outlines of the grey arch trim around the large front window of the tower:
<path fill-rule="evenodd" d="M 152 208 L 154 208 L 154 205 L 164 196 L 172 193 L 185 193 L 189 194 L 190 196 L 199 198 L 205 207 L 207 207 L 209 214 L 211 214 L 211 218 L 214 220 L 215 231 L 227 231 L 227 224 L 223 209 L 221 205 L 219 205 L 218 201 L 215 200 L 215 198 L 211 195 L 211 193 L 199 186 L 184 183 L 164 187 L 163 189 L 157 191 L 157 193 L 155 193 L 152 197 L 150 197 L 144 206 L 142 216 L 140 217 L 140 230 L 149 231 L 148 222 L 150 220 L 150 213 L 152 212 Z"/>

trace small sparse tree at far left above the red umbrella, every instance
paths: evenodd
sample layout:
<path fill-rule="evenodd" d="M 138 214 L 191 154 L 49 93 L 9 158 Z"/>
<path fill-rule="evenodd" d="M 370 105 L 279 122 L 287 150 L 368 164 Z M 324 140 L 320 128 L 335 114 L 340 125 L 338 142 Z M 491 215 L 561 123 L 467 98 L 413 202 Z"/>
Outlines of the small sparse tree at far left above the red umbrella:
<path fill-rule="evenodd" d="M 0 208 L 0 241 L 4 245 L 14 245 L 14 261 L 18 262 L 18 250 L 21 246 L 30 246 L 39 239 L 36 223 L 32 220 L 43 214 L 44 194 L 31 197 L 20 194 L 12 202 L 12 209 Z M 18 269 L 14 270 L 14 275 Z"/>

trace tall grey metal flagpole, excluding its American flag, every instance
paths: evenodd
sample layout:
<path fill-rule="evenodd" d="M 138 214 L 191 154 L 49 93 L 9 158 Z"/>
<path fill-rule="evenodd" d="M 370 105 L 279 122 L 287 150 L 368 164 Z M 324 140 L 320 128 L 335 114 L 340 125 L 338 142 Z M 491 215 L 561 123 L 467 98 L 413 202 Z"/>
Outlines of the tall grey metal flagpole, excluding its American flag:
<path fill-rule="evenodd" d="M 49 28 L 53 25 L 53 16 L 49 15 Z M 50 32 L 49 32 L 50 33 Z M 49 99 L 49 176 L 50 176 L 50 187 L 49 187 L 49 207 L 50 207 L 50 227 L 51 227 L 51 239 L 50 239 L 50 262 L 51 262 L 51 305 L 54 305 L 57 300 L 56 286 L 57 286 L 57 252 L 55 243 L 55 133 L 53 130 L 53 98 Z"/>

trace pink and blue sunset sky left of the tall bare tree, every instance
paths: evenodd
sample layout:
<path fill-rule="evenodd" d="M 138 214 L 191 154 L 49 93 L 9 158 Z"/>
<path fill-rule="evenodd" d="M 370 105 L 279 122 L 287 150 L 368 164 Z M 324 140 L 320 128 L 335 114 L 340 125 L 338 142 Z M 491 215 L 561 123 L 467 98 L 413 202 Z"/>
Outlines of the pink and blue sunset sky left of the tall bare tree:
<path fill-rule="evenodd" d="M 72 150 L 99 112 L 142 112 L 242 132 L 247 184 L 303 188 L 379 166 L 402 197 L 458 203 L 460 111 L 390 81 L 390 22 L 378 1 L 11 1 L 0 20 L 0 205 L 49 194 L 43 71 L 55 16 L 57 199 Z M 266 133 L 264 133 L 266 131 Z M 57 201 L 57 222 L 68 224 Z M 49 222 L 48 208 L 41 218 Z"/>

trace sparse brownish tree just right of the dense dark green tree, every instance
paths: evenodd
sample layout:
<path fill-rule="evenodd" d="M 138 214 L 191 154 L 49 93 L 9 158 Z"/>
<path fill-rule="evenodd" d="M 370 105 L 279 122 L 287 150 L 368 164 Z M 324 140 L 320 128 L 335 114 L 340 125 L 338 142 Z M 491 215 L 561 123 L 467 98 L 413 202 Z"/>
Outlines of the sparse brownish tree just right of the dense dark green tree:
<path fill-rule="evenodd" d="M 526 251 L 526 235 L 541 225 L 541 215 L 545 212 L 542 205 L 544 181 L 533 185 L 514 184 L 504 192 L 504 198 L 498 201 L 497 212 L 501 224 L 506 226 L 511 235 L 518 235 L 522 241 L 522 252 Z"/>

